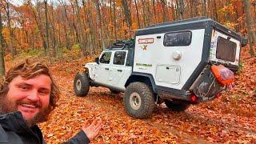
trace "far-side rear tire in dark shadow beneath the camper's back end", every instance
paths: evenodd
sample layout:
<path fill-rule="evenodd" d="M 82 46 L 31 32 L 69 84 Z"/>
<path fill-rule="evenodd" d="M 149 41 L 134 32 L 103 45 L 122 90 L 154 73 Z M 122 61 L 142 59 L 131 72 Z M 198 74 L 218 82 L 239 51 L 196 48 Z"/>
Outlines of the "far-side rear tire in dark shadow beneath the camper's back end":
<path fill-rule="evenodd" d="M 190 107 L 190 104 L 187 102 L 172 102 L 170 100 L 165 100 L 166 106 L 170 109 L 170 110 L 174 110 L 174 111 L 184 111 L 186 110 L 188 107 Z"/>

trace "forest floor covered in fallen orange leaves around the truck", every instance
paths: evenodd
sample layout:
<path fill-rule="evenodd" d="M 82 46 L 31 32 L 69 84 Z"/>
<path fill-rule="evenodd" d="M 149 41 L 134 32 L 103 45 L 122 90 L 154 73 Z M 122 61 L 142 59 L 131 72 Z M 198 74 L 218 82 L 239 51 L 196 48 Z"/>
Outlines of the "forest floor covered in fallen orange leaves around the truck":
<path fill-rule="evenodd" d="M 242 50 L 242 70 L 235 75 L 235 86 L 221 98 L 174 112 L 164 104 L 156 106 L 152 118 L 136 119 L 126 114 L 123 94 L 111 94 L 102 87 L 91 87 L 86 97 L 73 90 L 74 75 L 93 58 L 46 62 L 62 92 L 58 107 L 39 126 L 47 143 L 61 143 L 81 129 L 87 119 L 104 123 L 91 143 L 254 143 L 256 142 L 256 58 Z M 49 61 L 48 61 L 48 60 Z M 51 60 L 50 60 L 51 59 Z M 7 67 L 12 62 L 6 62 Z"/>

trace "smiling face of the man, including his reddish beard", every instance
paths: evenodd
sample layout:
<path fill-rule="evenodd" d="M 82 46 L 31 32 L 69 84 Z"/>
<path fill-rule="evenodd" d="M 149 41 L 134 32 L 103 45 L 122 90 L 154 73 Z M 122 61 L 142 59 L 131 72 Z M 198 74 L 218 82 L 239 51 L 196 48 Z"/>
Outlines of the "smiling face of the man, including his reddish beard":
<path fill-rule="evenodd" d="M 8 86 L 9 90 L 4 98 L 7 106 L 3 106 L 2 109 L 6 109 L 7 112 L 18 110 L 22 112 L 26 122 L 32 124 L 42 121 L 42 116 L 46 117 L 51 90 L 49 76 L 40 74 L 30 79 L 18 76 Z"/>

